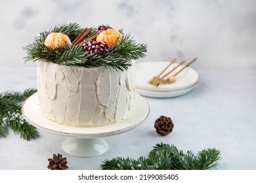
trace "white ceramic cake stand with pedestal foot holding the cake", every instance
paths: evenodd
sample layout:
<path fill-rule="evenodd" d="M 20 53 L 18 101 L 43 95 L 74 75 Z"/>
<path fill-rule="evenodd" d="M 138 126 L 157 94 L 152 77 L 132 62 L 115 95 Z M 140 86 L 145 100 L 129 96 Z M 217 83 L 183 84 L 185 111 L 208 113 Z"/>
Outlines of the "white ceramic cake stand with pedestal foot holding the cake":
<path fill-rule="evenodd" d="M 117 135 L 139 126 L 146 120 L 149 112 L 148 103 L 135 93 L 135 108 L 125 120 L 99 127 L 71 127 L 45 118 L 39 110 L 37 93 L 30 96 L 22 105 L 22 115 L 30 124 L 56 135 L 68 136 L 68 139 L 62 143 L 62 149 L 77 157 L 93 157 L 103 154 L 108 150 L 108 142 L 102 137 Z"/>

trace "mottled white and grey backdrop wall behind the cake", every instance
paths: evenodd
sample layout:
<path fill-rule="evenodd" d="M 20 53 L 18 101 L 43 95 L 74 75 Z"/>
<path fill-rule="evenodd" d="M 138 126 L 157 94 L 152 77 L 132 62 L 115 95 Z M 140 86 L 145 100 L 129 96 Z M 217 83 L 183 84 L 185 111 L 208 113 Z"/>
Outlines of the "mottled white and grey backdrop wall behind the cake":
<path fill-rule="evenodd" d="M 255 67 L 254 0 L 0 1 L 0 66 L 24 66 L 22 47 L 64 22 L 109 24 L 148 44 L 142 60 L 192 59 L 194 67 Z"/>

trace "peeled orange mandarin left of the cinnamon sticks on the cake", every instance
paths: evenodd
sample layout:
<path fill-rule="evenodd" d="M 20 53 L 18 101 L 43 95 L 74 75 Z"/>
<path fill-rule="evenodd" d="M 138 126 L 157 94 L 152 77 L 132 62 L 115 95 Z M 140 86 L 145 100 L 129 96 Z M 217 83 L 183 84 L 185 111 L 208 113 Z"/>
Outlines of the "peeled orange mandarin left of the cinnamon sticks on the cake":
<path fill-rule="evenodd" d="M 63 33 L 50 33 L 47 35 L 44 44 L 45 46 L 54 49 L 58 46 L 65 46 L 67 42 L 71 45 L 70 38 L 67 35 Z"/>

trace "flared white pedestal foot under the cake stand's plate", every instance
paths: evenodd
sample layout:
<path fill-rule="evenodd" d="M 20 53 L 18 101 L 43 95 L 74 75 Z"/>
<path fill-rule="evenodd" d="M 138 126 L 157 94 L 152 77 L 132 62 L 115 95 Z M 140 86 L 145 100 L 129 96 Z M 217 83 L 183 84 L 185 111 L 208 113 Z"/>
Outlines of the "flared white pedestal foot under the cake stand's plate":
<path fill-rule="evenodd" d="M 70 137 L 62 143 L 62 149 L 72 156 L 89 158 L 104 154 L 108 150 L 108 142 L 103 138 L 83 139 Z"/>

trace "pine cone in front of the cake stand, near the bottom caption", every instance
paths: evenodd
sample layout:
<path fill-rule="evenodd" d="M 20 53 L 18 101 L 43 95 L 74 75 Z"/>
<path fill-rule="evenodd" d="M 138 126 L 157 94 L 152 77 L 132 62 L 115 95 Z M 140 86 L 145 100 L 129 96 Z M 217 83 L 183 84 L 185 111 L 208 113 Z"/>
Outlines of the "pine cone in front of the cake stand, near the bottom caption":
<path fill-rule="evenodd" d="M 51 170 L 66 170 L 68 169 L 68 166 L 66 165 L 68 163 L 66 158 L 62 158 L 62 154 L 53 154 L 53 159 L 49 158 L 49 165 L 47 168 Z"/>

